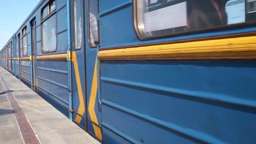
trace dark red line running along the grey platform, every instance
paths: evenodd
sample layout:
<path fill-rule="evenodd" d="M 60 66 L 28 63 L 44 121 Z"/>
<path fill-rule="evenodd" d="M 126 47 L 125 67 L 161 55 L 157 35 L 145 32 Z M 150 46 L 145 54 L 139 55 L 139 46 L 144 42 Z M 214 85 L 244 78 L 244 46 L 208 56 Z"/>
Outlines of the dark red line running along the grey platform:
<path fill-rule="evenodd" d="M 7 98 L 10 102 L 11 108 L 13 109 L 14 115 L 16 117 L 16 120 L 18 122 L 21 135 L 23 137 L 23 140 L 25 144 L 39 144 L 39 140 L 37 139 L 36 134 L 34 133 L 30 123 L 27 121 L 27 118 L 22 111 L 21 107 L 19 106 L 17 100 L 14 98 L 13 93 L 10 92 L 10 89 L 3 79 L 3 76 L 0 75 L 2 85 L 4 88 L 4 91 L 6 92 Z"/>

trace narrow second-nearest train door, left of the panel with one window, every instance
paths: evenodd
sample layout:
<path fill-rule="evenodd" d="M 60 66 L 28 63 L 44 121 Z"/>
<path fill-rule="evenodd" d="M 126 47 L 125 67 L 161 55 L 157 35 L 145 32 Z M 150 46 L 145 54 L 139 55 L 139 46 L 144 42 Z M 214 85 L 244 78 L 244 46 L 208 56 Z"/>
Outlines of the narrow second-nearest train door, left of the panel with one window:
<path fill-rule="evenodd" d="M 31 84 L 33 87 L 33 91 L 37 92 L 37 78 L 36 78 L 36 53 L 37 53 L 37 46 L 36 46 L 36 20 L 32 20 L 31 22 L 31 54 L 32 54 L 32 79 Z"/>

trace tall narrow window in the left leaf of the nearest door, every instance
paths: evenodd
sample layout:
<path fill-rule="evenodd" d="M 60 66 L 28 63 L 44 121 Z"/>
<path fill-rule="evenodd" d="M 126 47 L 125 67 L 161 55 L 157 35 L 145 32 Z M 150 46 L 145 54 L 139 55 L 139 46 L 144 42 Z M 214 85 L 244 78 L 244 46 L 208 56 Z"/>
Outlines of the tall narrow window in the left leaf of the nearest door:
<path fill-rule="evenodd" d="M 74 28 L 74 49 L 82 47 L 82 0 L 73 0 L 73 28 Z"/>

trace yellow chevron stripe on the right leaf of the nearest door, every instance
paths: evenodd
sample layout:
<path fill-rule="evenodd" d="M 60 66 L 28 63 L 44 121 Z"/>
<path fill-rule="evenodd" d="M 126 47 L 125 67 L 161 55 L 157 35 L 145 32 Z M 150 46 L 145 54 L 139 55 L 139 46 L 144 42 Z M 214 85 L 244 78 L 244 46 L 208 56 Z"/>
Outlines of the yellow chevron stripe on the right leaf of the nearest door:
<path fill-rule="evenodd" d="M 98 88 L 98 77 L 97 77 L 97 59 L 95 61 L 95 67 L 94 67 L 94 76 L 92 78 L 92 84 L 91 84 L 91 95 L 90 95 L 90 101 L 89 101 L 89 113 L 91 116 L 91 121 L 98 124 L 98 119 L 94 110 L 95 107 L 95 101 L 96 101 L 96 95 L 97 95 L 97 88 Z M 94 127 L 95 135 L 98 137 L 98 139 L 102 140 L 102 134 L 101 129 L 97 127 L 95 124 L 92 124 Z"/>

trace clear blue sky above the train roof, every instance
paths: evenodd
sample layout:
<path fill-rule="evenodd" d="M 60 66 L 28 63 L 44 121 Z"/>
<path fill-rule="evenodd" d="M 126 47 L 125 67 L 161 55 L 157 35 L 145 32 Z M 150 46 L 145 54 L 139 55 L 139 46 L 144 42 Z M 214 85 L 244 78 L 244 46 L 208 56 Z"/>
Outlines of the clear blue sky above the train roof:
<path fill-rule="evenodd" d="M 18 30 L 21 23 L 32 12 L 40 0 L 1 1 L 0 9 L 0 49 Z"/>

